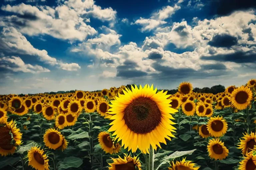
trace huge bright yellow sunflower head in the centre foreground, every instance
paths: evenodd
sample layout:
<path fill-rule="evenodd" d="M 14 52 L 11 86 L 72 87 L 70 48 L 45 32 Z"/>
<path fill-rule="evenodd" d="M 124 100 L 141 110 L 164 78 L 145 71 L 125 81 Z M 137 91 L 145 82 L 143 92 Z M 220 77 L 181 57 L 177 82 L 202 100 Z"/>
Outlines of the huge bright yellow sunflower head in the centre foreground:
<path fill-rule="evenodd" d="M 132 91 L 126 88 L 124 95 L 111 101 L 108 113 L 114 121 L 108 131 L 115 131 L 113 135 L 118 141 L 122 140 L 122 146 L 128 147 L 128 151 L 139 148 L 142 153 L 149 153 L 150 145 L 156 150 L 156 145 L 161 148 L 159 142 L 166 144 L 165 138 L 175 137 L 172 132 L 176 128 L 172 125 L 176 123 L 170 119 L 174 119 L 171 114 L 178 111 L 170 107 L 167 91 L 156 91 L 153 84 L 144 88 L 140 85 L 139 89 L 134 85 Z"/>

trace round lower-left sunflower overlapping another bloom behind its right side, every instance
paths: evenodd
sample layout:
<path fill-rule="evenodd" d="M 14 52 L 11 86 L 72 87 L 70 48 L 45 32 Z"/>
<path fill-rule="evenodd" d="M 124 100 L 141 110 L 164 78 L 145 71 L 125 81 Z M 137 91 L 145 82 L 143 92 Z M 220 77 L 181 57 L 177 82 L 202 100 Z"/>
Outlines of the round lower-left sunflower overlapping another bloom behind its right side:
<path fill-rule="evenodd" d="M 45 146 L 50 149 L 57 149 L 62 145 L 63 135 L 53 128 L 47 129 L 44 133 L 44 143 Z"/>

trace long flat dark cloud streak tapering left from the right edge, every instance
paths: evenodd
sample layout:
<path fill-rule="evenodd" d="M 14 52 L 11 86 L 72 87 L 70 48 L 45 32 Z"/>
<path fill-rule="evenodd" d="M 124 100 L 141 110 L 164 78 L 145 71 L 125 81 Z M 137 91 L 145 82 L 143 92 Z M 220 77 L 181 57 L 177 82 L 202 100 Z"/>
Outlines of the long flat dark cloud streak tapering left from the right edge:
<path fill-rule="evenodd" d="M 236 51 L 229 54 L 217 54 L 211 56 L 201 56 L 202 60 L 215 60 L 215 61 L 232 61 L 236 63 L 254 63 L 256 62 L 255 51 Z"/>

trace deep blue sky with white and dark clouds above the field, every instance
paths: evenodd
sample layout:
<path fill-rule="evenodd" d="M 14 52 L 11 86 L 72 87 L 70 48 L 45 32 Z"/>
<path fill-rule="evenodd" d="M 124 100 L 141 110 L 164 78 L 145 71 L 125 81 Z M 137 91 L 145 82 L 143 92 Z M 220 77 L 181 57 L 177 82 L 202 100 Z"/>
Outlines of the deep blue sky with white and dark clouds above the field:
<path fill-rule="evenodd" d="M 250 0 L 3 0 L 0 94 L 240 86 L 256 77 Z"/>

